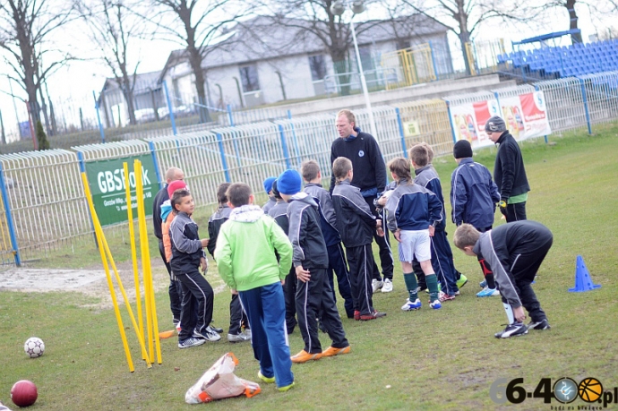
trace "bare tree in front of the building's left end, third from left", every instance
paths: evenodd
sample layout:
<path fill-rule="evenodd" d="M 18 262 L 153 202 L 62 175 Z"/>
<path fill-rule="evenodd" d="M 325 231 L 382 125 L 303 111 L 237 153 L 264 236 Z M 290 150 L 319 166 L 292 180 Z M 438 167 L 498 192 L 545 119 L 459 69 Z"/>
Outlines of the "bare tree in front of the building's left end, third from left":
<path fill-rule="evenodd" d="M 155 6 L 148 20 L 163 39 L 185 47 L 186 58 L 195 76 L 200 121 L 211 121 L 207 107 L 202 62 L 219 41 L 221 31 L 246 15 L 247 4 L 236 0 L 150 0 Z"/>

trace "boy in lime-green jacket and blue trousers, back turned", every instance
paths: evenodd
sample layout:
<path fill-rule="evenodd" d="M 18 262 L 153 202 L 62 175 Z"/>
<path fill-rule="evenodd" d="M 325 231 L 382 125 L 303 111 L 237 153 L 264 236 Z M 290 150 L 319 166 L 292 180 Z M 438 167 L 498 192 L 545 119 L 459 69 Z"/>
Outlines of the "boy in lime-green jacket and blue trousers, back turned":
<path fill-rule="evenodd" d="M 253 355 L 260 363 L 258 377 L 276 381 L 279 391 L 287 391 L 294 385 L 294 374 L 282 286 L 292 265 L 292 244 L 253 201 L 247 184 L 229 186 L 227 205 L 232 212 L 221 226 L 214 255 L 219 275 L 240 295 L 249 318 Z"/>

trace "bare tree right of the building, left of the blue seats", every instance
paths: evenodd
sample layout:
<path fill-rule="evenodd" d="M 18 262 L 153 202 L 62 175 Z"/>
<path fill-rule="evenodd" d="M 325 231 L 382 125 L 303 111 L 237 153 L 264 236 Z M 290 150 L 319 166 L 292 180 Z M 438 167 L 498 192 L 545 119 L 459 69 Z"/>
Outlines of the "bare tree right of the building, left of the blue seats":
<path fill-rule="evenodd" d="M 571 1 L 571 0 L 569 0 Z M 516 1 L 497 0 L 402 0 L 417 13 L 438 21 L 457 35 L 463 56 L 467 56 L 466 44 L 472 39 L 481 23 L 490 19 L 525 20 L 521 4 Z M 470 73 L 468 58 L 466 73 Z"/>

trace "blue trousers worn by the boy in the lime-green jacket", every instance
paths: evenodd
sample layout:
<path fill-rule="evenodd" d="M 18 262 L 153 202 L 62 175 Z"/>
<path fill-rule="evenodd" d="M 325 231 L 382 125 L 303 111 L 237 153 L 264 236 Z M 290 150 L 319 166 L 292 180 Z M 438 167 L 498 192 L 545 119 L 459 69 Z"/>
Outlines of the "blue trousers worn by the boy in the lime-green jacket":
<path fill-rule="evenodd" d="M 262 375 L 274 375 L 278 387 L 294 382 L 286 332 L 286 303 L 280 282 L 239 291 L 240 302 L 251 324 L 253 355 Z"/>

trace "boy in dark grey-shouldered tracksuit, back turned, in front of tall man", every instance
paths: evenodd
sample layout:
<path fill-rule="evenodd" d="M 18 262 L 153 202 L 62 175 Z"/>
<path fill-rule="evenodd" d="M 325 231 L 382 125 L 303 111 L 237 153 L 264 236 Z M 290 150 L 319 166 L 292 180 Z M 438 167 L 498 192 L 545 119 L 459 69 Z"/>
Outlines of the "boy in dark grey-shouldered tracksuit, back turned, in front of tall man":
<path fill-rule="evenodd" d="M 350 273 L 350 287 L 354 303 L 354 319 L 369 321 L 381 318 L 373 308 L 373 231 L 384 235 L 382 220 L 376 219 L 360 189 L 350 184 L 354 177 L 352 162 L 345 157 L 336 158 L 332 173 L 337 185 L 332 191 L 332 203 L 337 214 L 337 227 L 346 246 Z"/>

